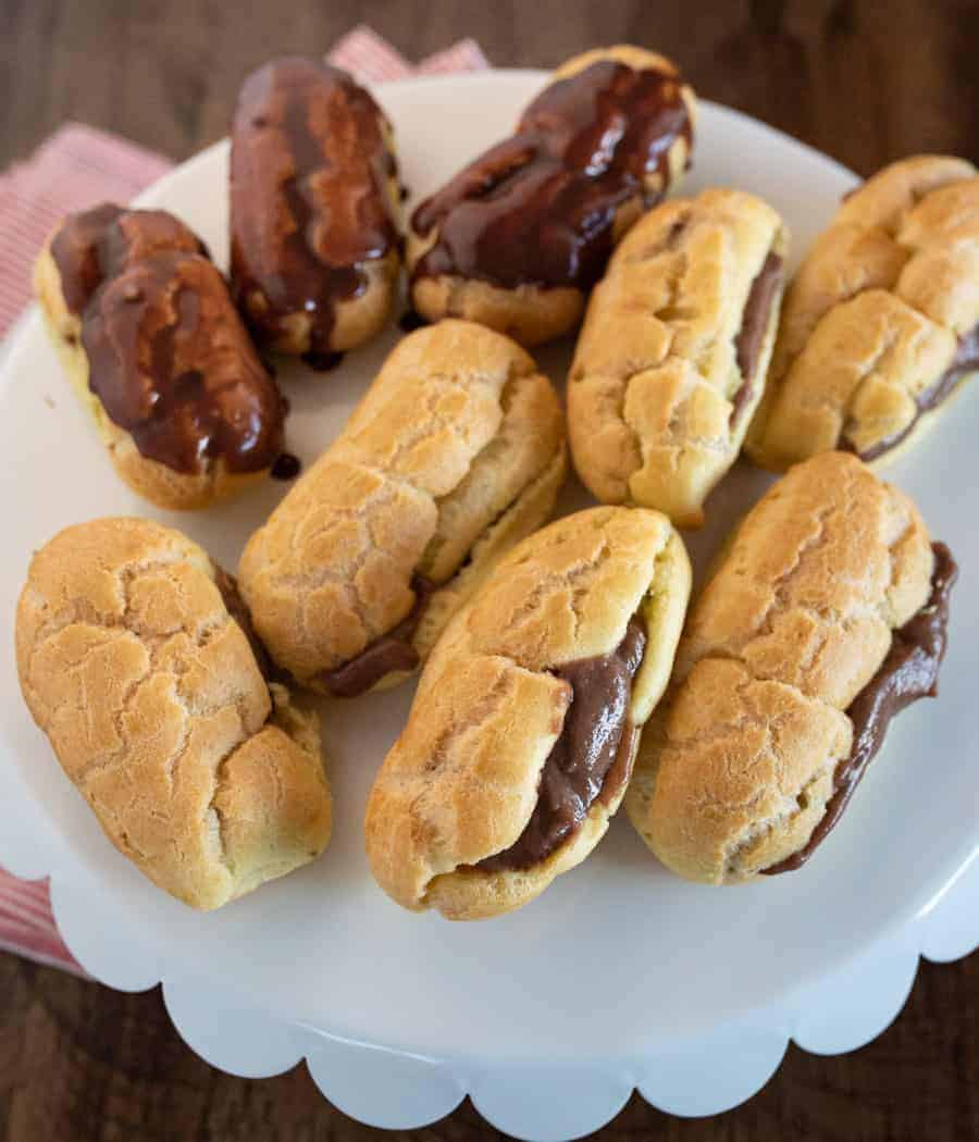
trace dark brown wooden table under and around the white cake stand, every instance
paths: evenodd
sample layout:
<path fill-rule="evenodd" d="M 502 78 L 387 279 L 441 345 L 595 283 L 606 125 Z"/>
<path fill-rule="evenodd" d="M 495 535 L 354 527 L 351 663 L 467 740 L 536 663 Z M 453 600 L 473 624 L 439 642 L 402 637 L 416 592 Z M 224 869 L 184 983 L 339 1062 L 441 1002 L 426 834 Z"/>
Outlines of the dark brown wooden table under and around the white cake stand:
<path fill-rule="evenodd" d="M 473 35 L 497 64 L 548 66 L 628 40 L 680 61 L 698 91 L 860 174 L 915 151 L 979 160 L 976 0 L 2 0 L 0 163 L 65 119 L 175 159 L 225 132 L 241 77 L 326 49 L 364 21 L 418 57 Z M 746 161 L 751 156 L 746 155 Z M 854 870 L 854 875 L 858 870 Z M 386 1137 L 320 1097 L 302 1068 L 244 1081 L 177 1038 L 159 991 L 125 996 L 0 955 L 6 1142 L 327 1142 Z M 406 1135 L 407 1136 L 407 1135 Z M 489 1139 L 468 1103 L 414 1139 Z M 608 1140 L 979 1137 L 979 955 L 924 964 L 897 1024 L 862 1051 L 791 1047 L 745 1107 L 671 1119 L 634 1097 Z"/>

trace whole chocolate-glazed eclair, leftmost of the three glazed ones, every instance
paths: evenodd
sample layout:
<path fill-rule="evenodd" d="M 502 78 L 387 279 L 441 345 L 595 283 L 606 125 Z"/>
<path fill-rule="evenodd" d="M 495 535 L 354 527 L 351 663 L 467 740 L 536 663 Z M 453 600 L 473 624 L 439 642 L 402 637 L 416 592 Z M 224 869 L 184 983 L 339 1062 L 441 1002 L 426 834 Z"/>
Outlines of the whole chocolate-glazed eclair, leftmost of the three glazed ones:
<path fill-rule="evenodd" d="M 41 313 L 129 486 L 203 508 L 265 475 L 284 402 L 200 239 L 162 210 L 71 215 L 34 266 Z"/>

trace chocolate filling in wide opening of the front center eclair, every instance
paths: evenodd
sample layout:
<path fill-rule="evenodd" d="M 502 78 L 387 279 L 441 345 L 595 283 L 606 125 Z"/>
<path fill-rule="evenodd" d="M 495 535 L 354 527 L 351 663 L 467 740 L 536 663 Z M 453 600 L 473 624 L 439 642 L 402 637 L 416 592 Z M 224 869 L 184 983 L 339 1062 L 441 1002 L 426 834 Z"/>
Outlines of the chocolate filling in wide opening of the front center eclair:
<path fill-rule="evenodd" d="M 539 864 L 581 825 L 596 801 L 608 803 L 621 791 L 639 739 L 628 710 L 645 641 L 645 621 L 637 611 L 611 654 L 552 671 L 571 687 L 571 702 L 540 771 L 537 805 L 514 844 L 475 868 L 507 872 Z"/>

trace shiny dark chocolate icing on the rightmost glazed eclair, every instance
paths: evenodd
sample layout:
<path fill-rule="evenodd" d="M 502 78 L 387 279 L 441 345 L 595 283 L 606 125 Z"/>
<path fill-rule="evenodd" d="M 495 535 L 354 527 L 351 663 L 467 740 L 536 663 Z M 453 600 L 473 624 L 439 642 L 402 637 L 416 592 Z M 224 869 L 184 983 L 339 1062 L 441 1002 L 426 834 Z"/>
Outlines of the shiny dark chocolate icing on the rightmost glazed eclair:
<path fill-rule="evenodd" d="M 658 202 L 644 177 L 657 170 L 666 188 L 669 148 L 683 137 L 689 152 L 681 86 L 611 59 L 551 83 L 515 135 L 415 211 L 416 233 L 439 232 L 412 276 L 589 289 L 611 254 L 616 210 L 635 198 Z"/>

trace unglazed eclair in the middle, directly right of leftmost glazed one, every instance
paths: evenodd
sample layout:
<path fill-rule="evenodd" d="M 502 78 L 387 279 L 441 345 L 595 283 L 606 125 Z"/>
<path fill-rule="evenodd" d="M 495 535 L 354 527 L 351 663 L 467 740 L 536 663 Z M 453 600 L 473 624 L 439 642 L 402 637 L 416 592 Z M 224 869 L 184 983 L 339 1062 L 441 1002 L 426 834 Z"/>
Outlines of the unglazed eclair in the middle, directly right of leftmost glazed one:
<path fill-rule="evenodd" d="M 404 678 L 564 478 L 561 405 L 513 341 L 443 321 L 401 340 L 241 558 L 272 657 L 353 697 Z"/>

